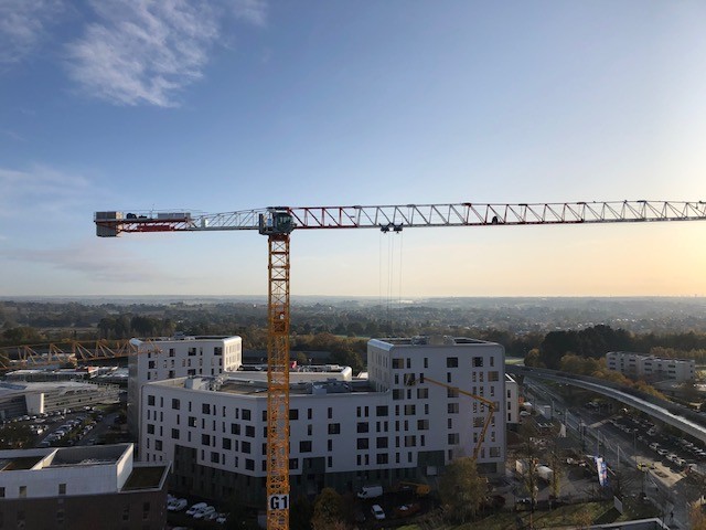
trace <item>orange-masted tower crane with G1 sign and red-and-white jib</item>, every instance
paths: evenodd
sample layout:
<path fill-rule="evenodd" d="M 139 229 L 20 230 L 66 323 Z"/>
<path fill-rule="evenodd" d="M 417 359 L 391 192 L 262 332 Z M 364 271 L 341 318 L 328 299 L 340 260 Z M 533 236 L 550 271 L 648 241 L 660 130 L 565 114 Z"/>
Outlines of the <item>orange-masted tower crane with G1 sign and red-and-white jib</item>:
<path fill-rule="evenodd" d="M 250 230 L 269 246 L 267 528 L 289 528 L 289 240 L 295 230 L 514 226 L 706 220 L 706 202 L 447 203 L 271 206 L 215 214 L 96 212 L 96 235 Z"/>

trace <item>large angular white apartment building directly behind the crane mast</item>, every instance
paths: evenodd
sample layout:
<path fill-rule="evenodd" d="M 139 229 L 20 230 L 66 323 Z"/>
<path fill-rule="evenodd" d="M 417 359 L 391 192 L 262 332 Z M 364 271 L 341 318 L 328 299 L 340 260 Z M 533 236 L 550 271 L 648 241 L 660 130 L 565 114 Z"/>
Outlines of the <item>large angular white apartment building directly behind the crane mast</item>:
<path fill-rule="evenodd" d="M 347 367 L 329 368 L 323 373 L 290 373 L 292 498 L 328 486 L 355 490 L 371 481 L 434 484 L 446 464 L 473 454 L 489 413 L 453 388 L 495 402 L 498 412 L 478 463 L 482 473 L 503 471 L 502 346 L 453 338 L 371 340 L 367 380 L 353 379 Z M 147 383 L 141 458 L 172 460 L 176 491 L 207 498 L 237 491 L 243 500 L 261 504 L 267 471 L 265 375 L 242 371 Z"/>

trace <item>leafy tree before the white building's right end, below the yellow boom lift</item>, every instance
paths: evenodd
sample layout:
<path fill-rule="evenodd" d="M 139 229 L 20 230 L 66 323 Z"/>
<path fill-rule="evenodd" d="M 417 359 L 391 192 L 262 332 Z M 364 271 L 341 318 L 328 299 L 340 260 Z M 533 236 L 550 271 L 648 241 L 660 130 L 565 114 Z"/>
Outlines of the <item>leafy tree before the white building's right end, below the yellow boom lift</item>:
<path fill-rule="evenodd" d="M 457 458 L 446 467 L 439 484 L 439 494 L 447 517 L 466 522 L 478 513 L 485 499 L 488 485 L 478 475 L 475 460 L 470 457 Z"/>

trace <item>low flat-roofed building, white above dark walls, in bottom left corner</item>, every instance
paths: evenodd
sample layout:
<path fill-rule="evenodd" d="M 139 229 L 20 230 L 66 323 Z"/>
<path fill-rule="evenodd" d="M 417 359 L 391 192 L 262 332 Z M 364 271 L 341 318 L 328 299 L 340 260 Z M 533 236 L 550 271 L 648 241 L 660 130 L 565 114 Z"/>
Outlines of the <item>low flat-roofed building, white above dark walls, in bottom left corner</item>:
<path fill-rule="evenodd" d="M 132 444 L 0 451 L 0 528 L 162 530 L 169 465 Z"/>

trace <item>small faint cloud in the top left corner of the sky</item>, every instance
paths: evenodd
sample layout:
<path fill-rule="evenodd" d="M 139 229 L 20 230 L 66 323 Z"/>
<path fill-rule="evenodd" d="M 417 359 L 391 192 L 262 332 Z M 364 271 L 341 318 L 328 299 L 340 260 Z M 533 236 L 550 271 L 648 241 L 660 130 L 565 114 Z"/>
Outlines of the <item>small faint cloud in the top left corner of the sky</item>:
<path fill-rule="evenodd" d="M 62 0 L 0 0 L 0 64 L 22 61 L 62 11 Z"/>

